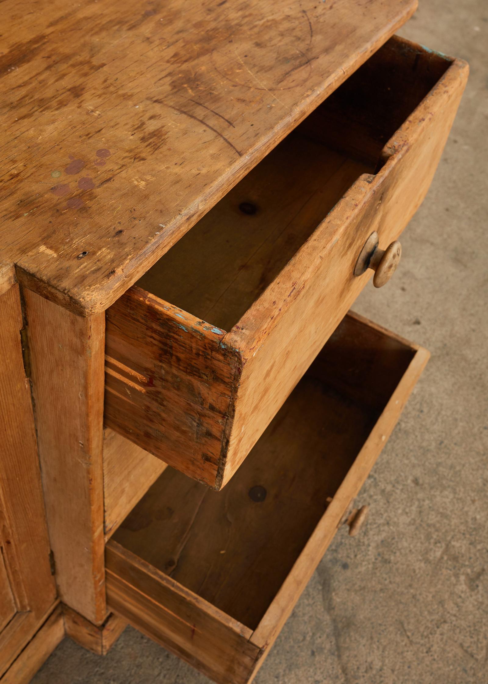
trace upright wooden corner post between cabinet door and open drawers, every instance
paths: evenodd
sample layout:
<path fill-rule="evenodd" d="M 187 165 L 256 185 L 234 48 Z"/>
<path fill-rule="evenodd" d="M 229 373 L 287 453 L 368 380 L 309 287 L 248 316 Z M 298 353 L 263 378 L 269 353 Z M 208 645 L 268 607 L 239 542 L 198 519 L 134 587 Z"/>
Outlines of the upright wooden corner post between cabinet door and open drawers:
<path fill-rule="evenodd" d="M 25 291 L 42 485 L 64 603 L 106 617 L 103 535 L 103 314 L 81 318 Z"/>

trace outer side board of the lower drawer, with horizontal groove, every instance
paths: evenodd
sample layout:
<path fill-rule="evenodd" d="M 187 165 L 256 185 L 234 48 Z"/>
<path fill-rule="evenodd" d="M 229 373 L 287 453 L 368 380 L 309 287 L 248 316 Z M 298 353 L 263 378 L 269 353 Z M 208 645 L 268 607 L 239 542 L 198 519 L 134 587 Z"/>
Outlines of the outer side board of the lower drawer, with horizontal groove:
<path fill-rule="evenodd" d="M 219 684 L 245 684 L 260 650 L 251 631 L 110 540 L 107 601 L 148 637 Z"/>

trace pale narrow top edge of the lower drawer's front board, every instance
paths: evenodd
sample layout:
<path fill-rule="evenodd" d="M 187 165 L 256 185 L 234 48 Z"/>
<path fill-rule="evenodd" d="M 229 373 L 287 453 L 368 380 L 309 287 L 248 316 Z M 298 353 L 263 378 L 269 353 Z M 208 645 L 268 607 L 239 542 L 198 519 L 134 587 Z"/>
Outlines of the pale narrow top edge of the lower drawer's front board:
<path fill-rule="evenodd" d="M 370 323 L 364 317 L 360 317 L 357 314 L 354 316 L 362 322 Z M 381 326 L 374 327 L 381 331 L 385 330 Z M 388 330 L 385 332 L 388 332 L 390 337 L 403 341 L 402 338 L 398 338 Z M 250 638 L 251 642 L 260 648 L 268 649 L 280 633 L 284 622 L 288 619 L 299 596 L 301 596 L 327 547 L 334 538 L 338 521 L 346 512 L 351 499 L 357 496 L 372 466 L 388 441 L 418 378 L 420 378 L 420 374 L 429 360 L 430 352 L 424 347 L 411 345 L 411 343 L 408 343 L 408 345 L 415 352 L 414 358 L 409 363 L 388 404 L 385 406 L 349 472 L 340 484 L 334 499 L 316 525 L 312 536 L 310 536 L 306 546 L 290 570 L 273 603 L 271 603 Z M 257 667 L 259 666 L 260 663 L 258 663 Z"/>

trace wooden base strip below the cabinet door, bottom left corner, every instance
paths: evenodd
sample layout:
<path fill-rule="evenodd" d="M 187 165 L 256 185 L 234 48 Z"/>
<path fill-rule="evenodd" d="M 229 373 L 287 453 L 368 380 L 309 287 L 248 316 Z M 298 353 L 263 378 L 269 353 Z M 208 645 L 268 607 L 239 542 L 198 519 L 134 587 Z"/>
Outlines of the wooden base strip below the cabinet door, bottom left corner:
<path fill-rule="evenodd" d="M 64 638 L 64 620 L 59 601 L 27 646 L 0 678 L 1 684 L 29 684 L 32 677 Z"/>

